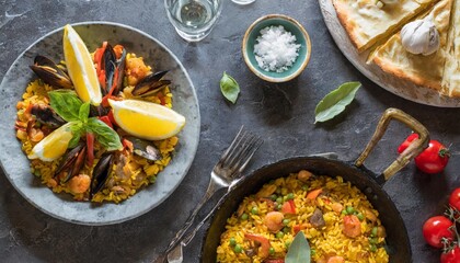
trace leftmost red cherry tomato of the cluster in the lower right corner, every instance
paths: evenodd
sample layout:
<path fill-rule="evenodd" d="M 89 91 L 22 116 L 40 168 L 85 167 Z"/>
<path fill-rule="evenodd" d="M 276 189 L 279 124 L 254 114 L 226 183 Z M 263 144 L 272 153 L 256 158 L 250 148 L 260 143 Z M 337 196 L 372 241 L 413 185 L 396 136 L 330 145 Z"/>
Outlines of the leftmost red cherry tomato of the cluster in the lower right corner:
<path fill-rule="evenodd" d="M 428 244 L 435 248 L 442 248 L 442 238 L 453 239 L 453 233 L 449 229 L 452 225 L 453 222 L 445 216 L 430 217 L 423 225 L 423 237 Z"/>

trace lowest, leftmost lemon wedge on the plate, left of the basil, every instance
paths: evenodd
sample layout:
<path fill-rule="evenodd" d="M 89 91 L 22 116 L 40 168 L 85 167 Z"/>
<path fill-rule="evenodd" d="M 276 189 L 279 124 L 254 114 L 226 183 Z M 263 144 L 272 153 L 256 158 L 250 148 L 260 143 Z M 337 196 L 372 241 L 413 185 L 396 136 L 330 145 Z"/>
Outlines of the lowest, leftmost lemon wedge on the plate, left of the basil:
<path fill-rule="evenodd" d="M 72 132 L 70 130 L 71 123 L 67 123 L 55 129 L 48 136 L 32 148 L 28 159 L 41 159 L 42 161 L 53 161 L 66 153 L 70 139 L 72 139 Z"/>

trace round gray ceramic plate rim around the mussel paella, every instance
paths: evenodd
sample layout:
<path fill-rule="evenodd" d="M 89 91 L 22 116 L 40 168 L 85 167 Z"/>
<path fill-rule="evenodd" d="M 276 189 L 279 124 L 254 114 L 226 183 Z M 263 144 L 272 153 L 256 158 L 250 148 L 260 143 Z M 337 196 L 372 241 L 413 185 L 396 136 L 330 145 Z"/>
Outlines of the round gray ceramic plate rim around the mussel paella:
<path fill-rule="evenodd" d="M 81 225 L 110 225 L 140 216 L 163 202 L 184 179 L 195 157 L 199 140 L 199 108 L 193 83 L 179 59 L 159 41 L 133 27 L 105 23 L 85 22 L 73 25 L 90 50 L 103 41 L 122 44 L 130 53 L 142 56 L 148 65 L 158 70 L 170 69 L 173 81 L 173 108 L 185 116 L 186 125 L 179 134 L 180 145 L 170 165 L 159 173 L 153 185 L 141 190 L 129 199 L 116 205 L 91 204 L 72 201 L 68 194 L 55 194 L 30 172 L 30 163 L 15 138 L 15 103 L 27 83 L 36 77 L 28 68 L 35 55 L 41 54 L 59 61 L 62 55 L 62 28 L 56 30 L 30 46 L 14 61 L 0 85 L 0 161 L 11 184 L 38 209 Z"/>

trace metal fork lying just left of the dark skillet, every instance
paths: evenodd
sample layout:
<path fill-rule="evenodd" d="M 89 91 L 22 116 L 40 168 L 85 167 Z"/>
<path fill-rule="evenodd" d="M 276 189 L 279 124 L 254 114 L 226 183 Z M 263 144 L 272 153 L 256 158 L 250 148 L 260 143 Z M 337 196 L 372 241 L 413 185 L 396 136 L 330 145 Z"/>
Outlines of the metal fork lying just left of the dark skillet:
<path fill-rule="evenodd" d="M 209 201 L 212 195 L 221 190 L 227 188 L 227 193 L 232 190 L 232 187 L 237 184 L 237 182 L 241 179 L 241 172 L 248 165 L 251 158 L 254 156 L 255 151 L 257 151 L 258 147 L 263 144 L 261 137 L 251 132 L 244 129 L 241 126 L 240 130 L 238 132 L 235 138 L 230 144 L 229 148 L 222 153 L 217 164 L 214 167 L 211 172 L 211 178 L 209 181 L 209 185 L 206 190 L 205 196 L 192 211 L 192 215 L 188 217 L 185 225 L 182 227 L 181 230 L 175 235 L 174 239 L 168 245 L 166 250 L 154 262 L 166 262 L 166 255 L 181 242 L 183 241 L 183 237 L 185 232 L 191 228 L 192 224 L 195 221 L 195 217 L 203 207 L 203 205 Z M 215 208 L 212 208 L 214 210 Z M 185 238 L 185 241 L 182 243 L 184 245 L 188 244 L 188 242 L 193 239 L 196 231 L 199 227 L 207 220 L 209 217 L 206 216 L 194 231 Z M 181 248 L 182 249 L 182 248 Z"/>

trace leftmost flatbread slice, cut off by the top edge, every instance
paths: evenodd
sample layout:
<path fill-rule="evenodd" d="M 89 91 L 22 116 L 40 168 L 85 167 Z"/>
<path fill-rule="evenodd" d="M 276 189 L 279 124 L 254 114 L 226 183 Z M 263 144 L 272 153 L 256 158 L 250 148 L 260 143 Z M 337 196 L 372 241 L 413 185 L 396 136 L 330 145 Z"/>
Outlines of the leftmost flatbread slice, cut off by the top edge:
<path fill-rule="evenodd" d="M 387 38 L 437 0 L 400 0 L 379 8 L 378 0 L 333 0 L 338 20 L 359 53 Z"/>

